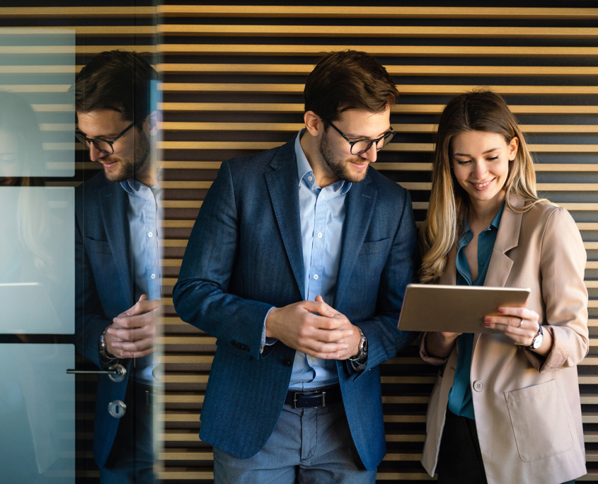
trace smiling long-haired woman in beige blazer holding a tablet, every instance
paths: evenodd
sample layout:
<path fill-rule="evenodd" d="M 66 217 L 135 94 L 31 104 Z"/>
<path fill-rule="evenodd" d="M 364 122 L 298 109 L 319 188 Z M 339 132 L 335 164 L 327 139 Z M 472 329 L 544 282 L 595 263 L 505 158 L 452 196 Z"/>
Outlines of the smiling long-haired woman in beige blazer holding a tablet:
<path fill-rule="evenodd" d="M 536 195 L 524 137 L 497 94 L 444 108 L 421 236 L 422 282 L 531 288 L 525 308 L 485 318 L 493 334 L 422 335 L 422 358 L 444 364 L 427 410 L 427 472 L 459 484 L 584 475 L 585 249 L 570 214 Z"/>

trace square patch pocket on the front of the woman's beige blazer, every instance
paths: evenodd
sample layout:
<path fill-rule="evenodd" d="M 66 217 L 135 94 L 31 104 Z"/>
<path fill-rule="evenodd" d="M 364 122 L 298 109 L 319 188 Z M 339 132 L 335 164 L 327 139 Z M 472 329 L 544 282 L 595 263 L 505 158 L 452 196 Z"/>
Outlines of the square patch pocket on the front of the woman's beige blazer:
<path fill-rule="evenodd" d="M 505 391 L 519 457 L 539 461 L 573 448 L 565 403 L 556 380 Z"/>

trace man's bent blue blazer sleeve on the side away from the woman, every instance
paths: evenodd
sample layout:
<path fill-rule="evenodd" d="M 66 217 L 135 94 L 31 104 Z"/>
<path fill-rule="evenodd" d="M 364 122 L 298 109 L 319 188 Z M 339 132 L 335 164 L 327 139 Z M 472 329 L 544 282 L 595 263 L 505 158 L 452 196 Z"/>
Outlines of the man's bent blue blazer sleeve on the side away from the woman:
<path fill-rule="evenodd" d="M 214 336 L 219 345 L 238 357 L 258 358 L 265 317 L 273 306 L 226 292 L 239 236 L 233 178 L 223 161 L 193 226 L 173 304 L 183 321 Z"/>

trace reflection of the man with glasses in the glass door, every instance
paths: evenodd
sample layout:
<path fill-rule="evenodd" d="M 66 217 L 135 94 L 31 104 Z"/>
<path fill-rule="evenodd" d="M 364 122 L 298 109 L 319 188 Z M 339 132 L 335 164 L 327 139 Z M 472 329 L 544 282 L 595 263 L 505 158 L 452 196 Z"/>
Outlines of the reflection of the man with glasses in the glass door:
<path fill-rule="evenodd" d="M 152 371 L 160 299 L 161 190 L 150 142 L 156 71 L 133 52 L 98 54 L 76 76 L 76 137 L 102 171 L 76 189 L 76 339 L 98 367 L 122 364 L 124 381 L 98 381 L 93 455 L 105 483 L 154 482 Z M 109 407 L 127 405 L 122 417 Z M 122 415 L 117 410 L 118 415 Z M 112 413 L 114 414 L 114 412 Z"/>

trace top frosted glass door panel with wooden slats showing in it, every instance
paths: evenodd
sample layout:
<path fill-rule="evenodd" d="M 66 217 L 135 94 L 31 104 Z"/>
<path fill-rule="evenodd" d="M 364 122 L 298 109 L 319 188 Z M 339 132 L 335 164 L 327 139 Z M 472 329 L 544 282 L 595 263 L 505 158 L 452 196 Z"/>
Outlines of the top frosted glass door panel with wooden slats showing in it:
<path fill-rule="evenodd" d="M 74 30 L 0 28 L 0 185 L 74 176 L 74 79 Z"/>

